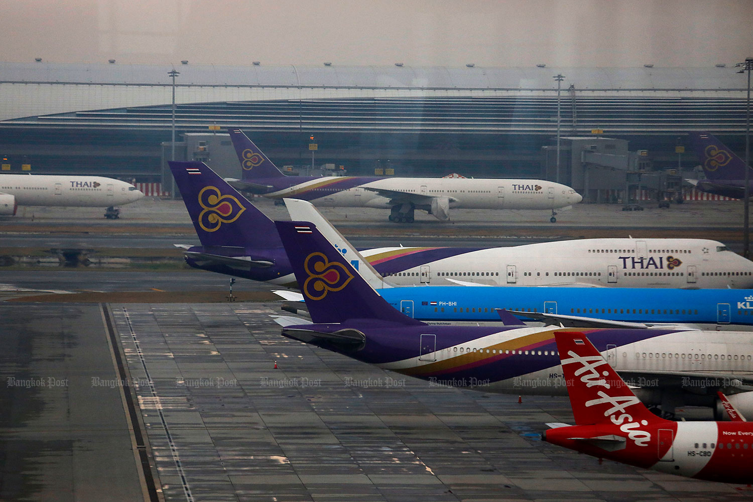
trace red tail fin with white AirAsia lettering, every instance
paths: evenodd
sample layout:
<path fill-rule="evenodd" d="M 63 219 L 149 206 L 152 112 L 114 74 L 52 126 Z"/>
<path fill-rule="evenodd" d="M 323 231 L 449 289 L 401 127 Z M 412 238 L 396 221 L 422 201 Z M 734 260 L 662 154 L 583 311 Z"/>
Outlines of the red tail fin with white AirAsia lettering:
<path fill-rule="evenodd" d="M 584 333 L 555 331 L 575 424 L 665 421 L 641 403 Z"/>

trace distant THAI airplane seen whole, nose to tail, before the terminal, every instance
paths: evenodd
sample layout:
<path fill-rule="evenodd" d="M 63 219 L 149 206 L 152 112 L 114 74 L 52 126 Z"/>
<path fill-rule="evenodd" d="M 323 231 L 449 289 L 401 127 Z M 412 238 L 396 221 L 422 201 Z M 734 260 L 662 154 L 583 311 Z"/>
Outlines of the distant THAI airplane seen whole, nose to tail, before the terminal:
<path fill-rule="evenodd" d="M 229 129 L 242 179 L 231 184 L 273 199 L 305 199 L 328 207 L 386 208 L 389 221 L 413 222 L 416 209 L 439 220 L 450 208 L 550 209 L 581 202 L 571 187 L 553 181 L 483 178 L 376 178 L 355 176 L 285 176 L 241 132 Z"/>

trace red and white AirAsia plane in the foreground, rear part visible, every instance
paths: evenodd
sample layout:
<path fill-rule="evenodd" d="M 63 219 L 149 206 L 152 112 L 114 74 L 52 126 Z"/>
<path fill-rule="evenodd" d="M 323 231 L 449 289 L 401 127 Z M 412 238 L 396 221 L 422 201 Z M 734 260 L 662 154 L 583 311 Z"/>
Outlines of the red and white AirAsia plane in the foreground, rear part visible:
<path fill-rule="evenodd" d="M 584 333 L 554 333 L 575 425 L 547 424 L 549 443 L 696 479 L 753 482 L 753 422 L 659 418 L 630 391 Z"/>

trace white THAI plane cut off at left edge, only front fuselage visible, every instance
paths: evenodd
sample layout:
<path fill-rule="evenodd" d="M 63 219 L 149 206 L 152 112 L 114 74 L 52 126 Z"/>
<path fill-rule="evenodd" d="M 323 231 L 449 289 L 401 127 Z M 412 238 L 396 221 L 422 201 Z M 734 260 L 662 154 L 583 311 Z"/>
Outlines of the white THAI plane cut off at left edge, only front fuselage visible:
<path fill-rule="evenodd" d="M 144 196 L 130 183 L 101 176 L 0 175 L 0 215 L 16 214 L 19 205 L 107 208 L 105 218 L 117 218 L 115 205 Z"/>

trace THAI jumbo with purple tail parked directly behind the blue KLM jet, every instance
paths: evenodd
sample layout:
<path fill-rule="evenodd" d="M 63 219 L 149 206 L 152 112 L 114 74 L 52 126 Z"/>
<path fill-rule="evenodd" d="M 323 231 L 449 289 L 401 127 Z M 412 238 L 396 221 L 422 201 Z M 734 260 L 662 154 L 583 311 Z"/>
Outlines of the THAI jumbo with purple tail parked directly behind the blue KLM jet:
<path fill-rule="evenodd" d="M 206 164 L 170 163 L 201 246 L 195 268 L 295 286 L 273 222 Z M 221 205 L 221 201 L 228 201 Z M 221 208 L 221 211 L 215 210 Z M 210 222 L 209 219 L 212 219 Z M 361 251 L 390 282 L 623 288 L 753 288 L 753 263 L 707 239 L 582 239 L 510 248 Z"/>

